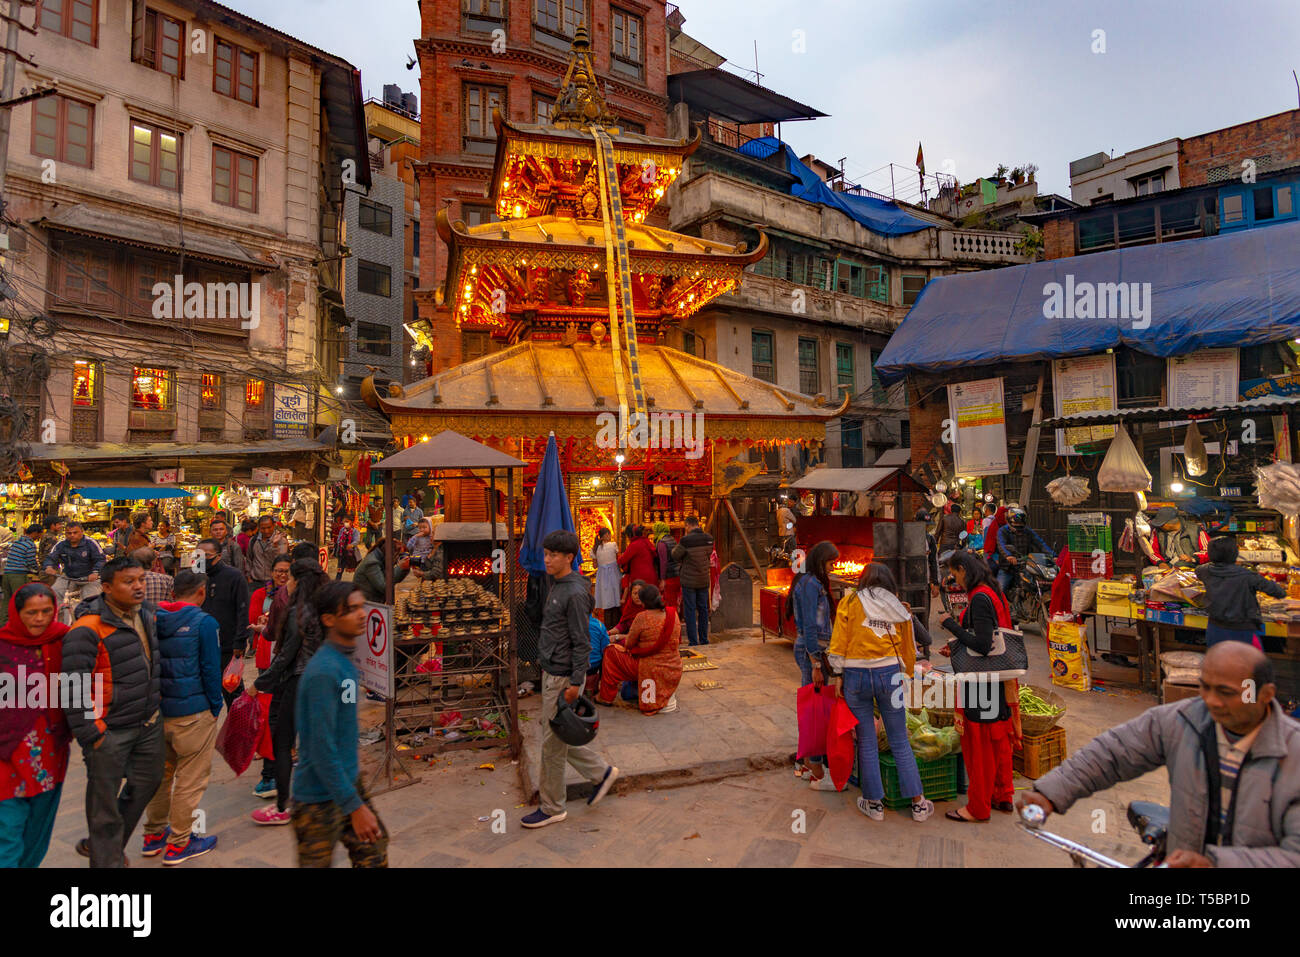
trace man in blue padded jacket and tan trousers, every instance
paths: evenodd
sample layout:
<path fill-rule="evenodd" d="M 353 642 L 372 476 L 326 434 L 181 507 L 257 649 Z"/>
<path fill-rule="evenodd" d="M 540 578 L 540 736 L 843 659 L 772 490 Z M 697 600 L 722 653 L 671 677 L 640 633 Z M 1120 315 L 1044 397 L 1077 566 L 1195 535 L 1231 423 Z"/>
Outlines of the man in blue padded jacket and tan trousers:
<path fill-rule="evenodd" d="M 194 810 L 212 775 L 224 700 L 217 619 L 200 607 L 207 586 L 207 575 L 185 568 L 176 575 L 176 601 L 160 602 L 157 611 L 166 763 L 162 784 L 146 809 L 143 853 L 162 854 L 165 865 L 200 857 L 217 845 L 214 836 L 191 833 Z"/>

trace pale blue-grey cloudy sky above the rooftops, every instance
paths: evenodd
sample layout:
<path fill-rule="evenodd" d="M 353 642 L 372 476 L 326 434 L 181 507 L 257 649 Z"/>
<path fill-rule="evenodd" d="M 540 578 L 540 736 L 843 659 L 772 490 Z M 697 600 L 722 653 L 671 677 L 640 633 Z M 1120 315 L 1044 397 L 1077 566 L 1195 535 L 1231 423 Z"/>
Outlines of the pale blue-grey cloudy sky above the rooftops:
<path fill-rule="evenodd" d="M 228 0 L 361 69 L 417 90 L 408 72 L 413 0 Z M 433 3 L 434 0 L 426 0 Z M 458 3 L 458 0 L 437 0 Z M 1000 163 L 1039 165 L 1043 191 L 1069 195 L 1069 164 L 1122 153 L 1300 105 L 1297 0 L 680 0 L 688 34 L 763 85 L 831 116 L 783 138 L 900 198 L 928 172 L 963 182 Z M 364 23 L 358 22 L 364 18 Z M 1095 31 L 1105 31 L 1105 52 Z M 803 31 L 805 52 L 797 52 Z M 909 174 L 910 172 L 910 174 Z"/>

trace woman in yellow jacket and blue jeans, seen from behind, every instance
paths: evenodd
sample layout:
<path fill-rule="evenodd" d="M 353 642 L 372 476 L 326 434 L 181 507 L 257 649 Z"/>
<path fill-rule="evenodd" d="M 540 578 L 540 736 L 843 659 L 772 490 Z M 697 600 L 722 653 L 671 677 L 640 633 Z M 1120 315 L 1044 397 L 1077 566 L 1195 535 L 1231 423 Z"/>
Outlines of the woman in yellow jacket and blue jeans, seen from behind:
<path fill-rule="evenodd" d="M 935 805 L 922 793 L 920 772 L 904 716 L 906 679 L 916 662 L 916 646 L 911 611 L 898 601 L 897 592 L 885 566 L 868 564 L 858 580 L 858 590 L 840 602 L 827 658 L 837 676 L 836 687 L 842 675 L 844 700 L 858 719 L 858 776 L 862 781 L 858 810 L 872 820 L 885 818 L 875 705 L 898 766 L 900 788 L 904 794 L 911 794 L 911 819 L 924 820 L 935 813 Z"/>

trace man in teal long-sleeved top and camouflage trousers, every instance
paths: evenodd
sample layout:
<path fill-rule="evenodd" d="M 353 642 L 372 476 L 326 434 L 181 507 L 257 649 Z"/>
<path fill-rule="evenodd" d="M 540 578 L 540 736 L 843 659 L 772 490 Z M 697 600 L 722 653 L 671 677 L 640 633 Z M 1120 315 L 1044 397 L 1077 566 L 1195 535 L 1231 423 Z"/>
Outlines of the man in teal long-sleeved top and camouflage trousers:
<path fill-rule="evenodd" d="M 294 720 L 294 832 L 299 867 L 329 867 L 334 845 L 347 848 L 354 867 L 389 866 L 389 832 L 361 784 L 356 754 L 356 696 L 352 663 L 365 631 L 365 596 L 351 581 L 330 581 L 313 610 L 325 641 L 298 681 Z"/>

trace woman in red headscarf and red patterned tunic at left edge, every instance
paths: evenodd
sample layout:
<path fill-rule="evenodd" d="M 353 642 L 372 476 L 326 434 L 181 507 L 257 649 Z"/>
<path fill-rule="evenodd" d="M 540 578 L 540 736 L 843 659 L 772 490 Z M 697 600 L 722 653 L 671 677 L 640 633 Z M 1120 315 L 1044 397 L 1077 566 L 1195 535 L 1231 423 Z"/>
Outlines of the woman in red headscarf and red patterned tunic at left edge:
<path fill-rule="evenodd" d="M 0 627 L 0 674 L 9 681 L 23 674 L 29 687 L 43 675 L 47 693 L 44 707 L 26 707 L 20 694 L 17 706 L 0 709 L 0 867 L 40 866 L 68 774 L 72 735 L 61 702 L 48 700 L 68 632 L 56 609 L 53 590 L 34 581 L 13 593 Z"/>

